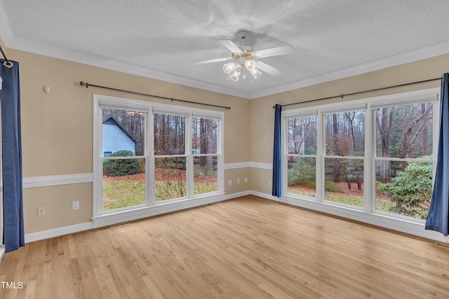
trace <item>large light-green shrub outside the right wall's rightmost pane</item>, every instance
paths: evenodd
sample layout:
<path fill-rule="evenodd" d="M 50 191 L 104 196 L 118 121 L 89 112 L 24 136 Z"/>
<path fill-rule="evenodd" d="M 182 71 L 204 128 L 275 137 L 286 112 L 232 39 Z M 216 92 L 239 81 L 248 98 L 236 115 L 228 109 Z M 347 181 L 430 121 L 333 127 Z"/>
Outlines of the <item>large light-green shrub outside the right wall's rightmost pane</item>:
<path fill-rule="evenodd" d="M 379 190 L 396 203 L 390 211 L 425 219 L 432 195 L 432 166 L 427 162 L 410 162 L 391 183 L 382 184 Z"/>

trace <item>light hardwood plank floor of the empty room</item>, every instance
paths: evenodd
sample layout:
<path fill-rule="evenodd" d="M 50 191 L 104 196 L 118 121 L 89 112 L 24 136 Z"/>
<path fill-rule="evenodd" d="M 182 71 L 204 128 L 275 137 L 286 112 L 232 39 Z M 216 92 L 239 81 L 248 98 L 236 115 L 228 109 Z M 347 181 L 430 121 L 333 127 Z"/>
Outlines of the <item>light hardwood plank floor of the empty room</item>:
<path fill-rule="evenodd" d="M 449 249 L 247 196 L 27 244 L 0 298 L 449 298 Z"/>

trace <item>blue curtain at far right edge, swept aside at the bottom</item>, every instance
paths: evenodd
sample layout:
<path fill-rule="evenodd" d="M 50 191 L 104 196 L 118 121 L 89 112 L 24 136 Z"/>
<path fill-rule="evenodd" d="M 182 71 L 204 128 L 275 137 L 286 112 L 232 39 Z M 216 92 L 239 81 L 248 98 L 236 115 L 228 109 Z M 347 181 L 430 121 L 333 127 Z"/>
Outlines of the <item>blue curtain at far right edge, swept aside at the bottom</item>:
<path fill-rule="evenodd" d="M 434 190 L 431 197 L 426 230 L 448 235 L 449 203 L 449 74 L 441 81 L 440 132 Z"/>

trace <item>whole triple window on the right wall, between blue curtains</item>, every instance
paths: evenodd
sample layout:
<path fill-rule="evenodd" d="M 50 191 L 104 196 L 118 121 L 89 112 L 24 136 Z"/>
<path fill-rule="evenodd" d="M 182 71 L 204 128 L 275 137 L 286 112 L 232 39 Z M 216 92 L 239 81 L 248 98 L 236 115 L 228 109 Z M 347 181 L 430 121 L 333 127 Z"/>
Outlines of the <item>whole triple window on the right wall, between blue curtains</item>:
<path fill-rule="evenodd" d="M 423 223 L 436 167 L 438 93 L 285 111 L 284 193 L 333 211 Z"/>

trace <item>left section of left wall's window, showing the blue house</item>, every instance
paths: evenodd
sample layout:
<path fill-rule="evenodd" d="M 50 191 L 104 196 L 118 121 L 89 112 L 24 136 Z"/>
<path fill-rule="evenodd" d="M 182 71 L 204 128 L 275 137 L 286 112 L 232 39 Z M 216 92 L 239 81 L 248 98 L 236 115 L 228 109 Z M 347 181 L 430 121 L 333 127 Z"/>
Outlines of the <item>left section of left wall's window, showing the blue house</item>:
<path fill-rule="evenodd" d="M 145 204 L 147 113 L 134 109 L 101 111 L 102 211 Z"/>

